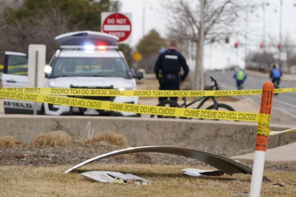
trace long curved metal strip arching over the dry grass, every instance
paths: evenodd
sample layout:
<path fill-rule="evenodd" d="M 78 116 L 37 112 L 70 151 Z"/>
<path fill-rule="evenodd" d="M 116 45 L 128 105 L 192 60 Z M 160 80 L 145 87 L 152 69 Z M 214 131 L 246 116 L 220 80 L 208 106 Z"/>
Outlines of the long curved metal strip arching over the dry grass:
<path fill-rule="evenodd" d="M 130 148 L 125 148 L 117 151 L 112 151 L 112 152 L 88 159 L 82 163 L 79 163 L 76 166 L 68 169 L 64 173 L 68 173 L 88 163 L 98 161 L 104 158 L 108 158 L 116 155 L 129 154 L 129 153 L 139 153 L 139 152 L 157 152 L 157 153 L 168 153 L 168 154 L 180 155 L 180 156 L 189 157 L 192 159 L 197 159 L 198 161 L 201 161 L 212 167 L 215 167 L 216 169 L 228 175 L 232 175 L 236 173 L 252 175 L 252 168 L 244 164 L 241 164 L 239 162 L 236 162 L 232 159 L 229 159 L 227 157 L 223 157 L 223 156 L 205 152 L 205 151 L 198 151 L 191 148 L 165 147 L 165 146 L 130 147 Z M 263 176 L 263 180 L 270 181 L 265 176 Z"/>

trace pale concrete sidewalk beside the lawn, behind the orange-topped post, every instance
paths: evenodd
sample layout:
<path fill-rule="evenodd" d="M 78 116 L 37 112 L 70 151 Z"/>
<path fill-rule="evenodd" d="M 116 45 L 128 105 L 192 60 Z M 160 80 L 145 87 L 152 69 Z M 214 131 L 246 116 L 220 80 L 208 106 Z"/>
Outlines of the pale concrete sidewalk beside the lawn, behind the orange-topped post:
<path fill-rule="evenodd" d="M 283 165 L 296 164 L 296 142 L 284 146 L 267 149 L 265 156 L 265 164 Z M 244 163 L 253 163 L 254 153 L 233 156 L 231 159 L 239 160 Z"/>

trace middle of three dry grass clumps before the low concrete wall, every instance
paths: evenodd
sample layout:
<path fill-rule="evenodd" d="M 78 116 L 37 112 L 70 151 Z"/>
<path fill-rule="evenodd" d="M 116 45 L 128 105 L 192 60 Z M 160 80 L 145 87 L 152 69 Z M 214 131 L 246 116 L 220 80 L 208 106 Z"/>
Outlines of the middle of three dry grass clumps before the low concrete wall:
<path fill-rule="evenodd" d="M 36 147 L 56 147 L 67 146 L 71 143 L 73 143 L 72 137 L 64 131 L 51 131 L 37 135 L 31 144 Z"/>

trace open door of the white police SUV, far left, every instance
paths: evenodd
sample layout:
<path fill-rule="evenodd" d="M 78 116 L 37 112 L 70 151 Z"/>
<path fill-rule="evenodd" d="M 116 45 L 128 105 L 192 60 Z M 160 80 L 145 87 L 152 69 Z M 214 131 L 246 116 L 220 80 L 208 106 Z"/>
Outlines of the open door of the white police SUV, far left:
<path fill-rule="evenodd" d="M 18 52 L 5 52 L 4 68 L 2 74 L 3 87 L 28 86 L 28 57 L 27 54 Z M 4 99 L 6 114 L 31 114 L 32 102 Z"/>

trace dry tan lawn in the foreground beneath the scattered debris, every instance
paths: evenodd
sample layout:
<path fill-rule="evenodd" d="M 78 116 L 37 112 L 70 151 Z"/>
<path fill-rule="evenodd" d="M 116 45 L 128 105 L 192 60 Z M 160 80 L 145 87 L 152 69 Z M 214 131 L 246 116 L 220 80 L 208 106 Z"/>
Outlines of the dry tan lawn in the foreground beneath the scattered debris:
<path fill-rule="evenodd" d="M 151 164 L 92 163 L 79 171 L 63 174 L 72 167 L 0 166 L 0 196 L 232 196 L 235 192 L 248 192 L 250 175 L 235 174 L 218 177 L 183 176 L 181 169 L 193 166 Z M 209 169 L 204 166 L 194 166 Z M 79 173 L 90 170 L 109 170 L 132 173 L 153 183 L 151 185 L 108 184 L 89 181 Z M 270 171 L 265 175 L 273 182 L 263 182 L 261 196 L 294 197 L 296 172 Z M 282 182 L 286 187 L 273 186 Z"/>

